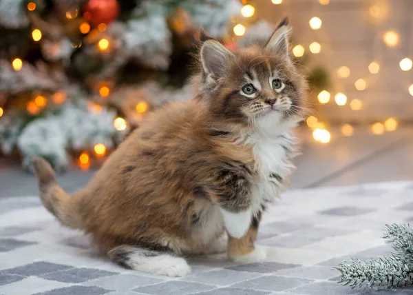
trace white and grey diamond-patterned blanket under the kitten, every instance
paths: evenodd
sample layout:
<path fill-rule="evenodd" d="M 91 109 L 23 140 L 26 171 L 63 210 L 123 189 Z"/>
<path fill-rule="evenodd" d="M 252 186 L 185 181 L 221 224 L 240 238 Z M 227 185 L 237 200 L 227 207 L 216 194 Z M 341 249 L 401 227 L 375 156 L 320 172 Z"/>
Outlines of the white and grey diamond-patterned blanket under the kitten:
<path fill-rule="evenodd" d="M 1 295 L 376 294 L 337 283 L 337 262 L 377 258 L 391 249 L 385 223 L 413 221 L 413 183 L 292 190 L 262 219 L 264 263 L 238 265 L 225 254 L 189 258 L 183 278 L 123 269 L 68 230 L 36 196 L 0 199 Z M 413 289 L 378 294 L 413 294 Z"/>

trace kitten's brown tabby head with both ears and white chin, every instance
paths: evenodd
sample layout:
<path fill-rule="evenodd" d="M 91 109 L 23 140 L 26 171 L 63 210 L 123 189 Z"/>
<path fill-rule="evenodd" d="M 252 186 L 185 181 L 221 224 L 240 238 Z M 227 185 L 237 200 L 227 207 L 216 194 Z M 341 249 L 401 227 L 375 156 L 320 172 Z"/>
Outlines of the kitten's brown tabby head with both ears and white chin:
<path fill-rule="evenodd" d="M 289 32 L 284 19 L 266 44 L 235 51 L 204 38 L 200 91 L 215 120 L 255 130 L 299 121 L 306 81 L 290 58 Z"/>

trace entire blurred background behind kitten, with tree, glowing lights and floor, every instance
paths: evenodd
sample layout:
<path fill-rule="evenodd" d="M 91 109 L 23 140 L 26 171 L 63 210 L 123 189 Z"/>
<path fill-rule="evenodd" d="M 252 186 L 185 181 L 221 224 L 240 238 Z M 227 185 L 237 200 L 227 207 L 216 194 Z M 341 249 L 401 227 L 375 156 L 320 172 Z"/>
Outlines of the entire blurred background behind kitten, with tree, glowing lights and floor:
<path fill-rule="evenodd" d="M 230 50 L 290 17 L 313 112 L 293 187 L 413 178 L 411 0 L 0 0 L 0 196 L 70 192 L 149 112 L 191 99 L 202 27 Z"/>

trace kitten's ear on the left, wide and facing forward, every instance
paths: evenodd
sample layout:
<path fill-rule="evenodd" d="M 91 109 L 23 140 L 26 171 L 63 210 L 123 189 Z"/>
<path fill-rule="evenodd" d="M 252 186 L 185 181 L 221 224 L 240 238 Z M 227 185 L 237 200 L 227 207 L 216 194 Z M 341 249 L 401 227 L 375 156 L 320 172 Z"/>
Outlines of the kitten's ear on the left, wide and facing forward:
<path fill-rule="evenodd" d="M 207 76 L 218 79 L 224 74 L 226 65 L 233 56 L 220 42 L 207 40 L 201 48 L 202 70 Z"/>

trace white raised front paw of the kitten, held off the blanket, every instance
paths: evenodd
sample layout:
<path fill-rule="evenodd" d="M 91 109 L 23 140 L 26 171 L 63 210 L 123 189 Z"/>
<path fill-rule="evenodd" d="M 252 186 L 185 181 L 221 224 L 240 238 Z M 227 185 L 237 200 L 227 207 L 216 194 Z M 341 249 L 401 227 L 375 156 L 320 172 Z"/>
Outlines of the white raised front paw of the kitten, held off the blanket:
<path fill-rule="evenodd" d="M 226 231 L 230 236 L 242 238 L 251 225 L 251 218 L 253 216 L 251 208 L 239 213 L 229 212 L 222 208 L 220 208 L 220 211 L 224 218 Z"/>

